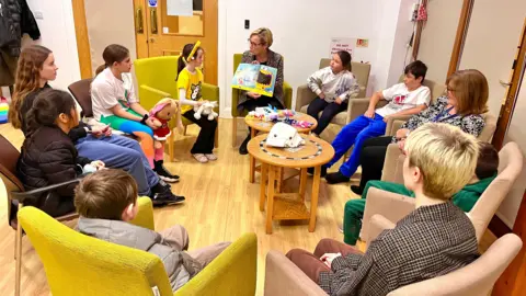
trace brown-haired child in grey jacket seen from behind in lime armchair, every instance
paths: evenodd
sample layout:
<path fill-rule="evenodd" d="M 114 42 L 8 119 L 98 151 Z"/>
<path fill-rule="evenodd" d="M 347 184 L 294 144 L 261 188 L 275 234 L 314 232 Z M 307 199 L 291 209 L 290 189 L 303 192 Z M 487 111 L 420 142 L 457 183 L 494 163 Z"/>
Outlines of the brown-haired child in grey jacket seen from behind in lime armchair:
<path fill-rule="evenodd" d="M 188 235 L 181 225 L 156 232 L 130 224 L 138 213 L 137 184 L 122 170 L 101 170 L 85 177 L 76 189 L 75 206 L 80 232 L 159 257 L 174 292 L 230 244 L 187 251 Z"/>

